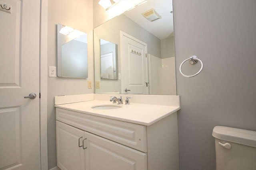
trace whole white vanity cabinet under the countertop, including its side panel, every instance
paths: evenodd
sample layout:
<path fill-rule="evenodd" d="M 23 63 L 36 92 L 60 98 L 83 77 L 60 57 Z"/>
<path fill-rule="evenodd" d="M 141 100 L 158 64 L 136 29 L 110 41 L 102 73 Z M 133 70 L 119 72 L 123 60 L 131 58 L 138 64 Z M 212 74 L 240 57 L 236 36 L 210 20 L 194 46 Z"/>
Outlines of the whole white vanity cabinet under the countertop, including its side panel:
<path fill-rule="evenodd" d="M 177 113 L 146 126 L 56 108 L 61 170 L 178 170 Z"/>

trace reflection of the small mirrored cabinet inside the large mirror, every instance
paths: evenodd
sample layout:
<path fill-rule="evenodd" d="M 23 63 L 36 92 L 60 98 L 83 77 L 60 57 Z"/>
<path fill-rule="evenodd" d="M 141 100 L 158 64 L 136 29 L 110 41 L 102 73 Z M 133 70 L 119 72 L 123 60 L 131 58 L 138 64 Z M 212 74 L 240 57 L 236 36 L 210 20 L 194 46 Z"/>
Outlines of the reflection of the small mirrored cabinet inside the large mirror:
<path fill-rule="evenodd" d="M 118 78 L 117 55 L 117 44 L 100 39 L 100 78 L 114 80 Z"/>

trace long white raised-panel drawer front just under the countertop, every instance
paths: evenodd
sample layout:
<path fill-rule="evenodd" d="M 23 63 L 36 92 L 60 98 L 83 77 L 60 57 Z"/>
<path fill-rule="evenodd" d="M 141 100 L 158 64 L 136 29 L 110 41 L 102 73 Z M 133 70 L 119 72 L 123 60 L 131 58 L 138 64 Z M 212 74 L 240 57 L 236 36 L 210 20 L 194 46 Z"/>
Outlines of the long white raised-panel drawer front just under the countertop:
<path fill-rule="evenodd" d="M 56 108 L 56 120 L 147 152 L 146 126 Z"/>

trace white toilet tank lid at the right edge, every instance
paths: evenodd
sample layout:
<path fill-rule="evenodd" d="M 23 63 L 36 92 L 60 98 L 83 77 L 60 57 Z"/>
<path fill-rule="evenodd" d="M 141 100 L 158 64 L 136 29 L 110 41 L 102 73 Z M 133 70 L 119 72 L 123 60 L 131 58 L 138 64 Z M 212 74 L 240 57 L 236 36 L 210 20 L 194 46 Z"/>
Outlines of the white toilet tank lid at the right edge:
<path fill-rule="evenodd" d="M 212 131 L 212 136 L 224 141 L 239 143 L 256 148 L 256 131 L 216 126 Z"/>

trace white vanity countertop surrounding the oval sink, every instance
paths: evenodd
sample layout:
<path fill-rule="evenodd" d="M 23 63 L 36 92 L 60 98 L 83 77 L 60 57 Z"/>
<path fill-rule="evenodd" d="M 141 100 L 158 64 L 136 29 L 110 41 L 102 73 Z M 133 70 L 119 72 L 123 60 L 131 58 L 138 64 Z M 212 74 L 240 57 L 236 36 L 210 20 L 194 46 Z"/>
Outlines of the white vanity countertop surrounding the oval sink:
<path fill-rule="evenodd" d="M 77 111 L 80 113 L 86 113 L 90 115 L 96 115 L 100 117 L 106 117 L 110 119 L 116 119 L 120 121 L 137 123 L 140 125 L 152 125 L 156 121 L 159 121 L 160 119 L 180 109 L 180 104 L 178 105 L 175 104 L 175 106 L 138 104 L 138 103 L 132 103 L 131 100 L 130 100 L 130 105 L 121 104 L 118 106 L 122 106 L 122 107 L 118 109 L 91 108 L 92 106 L 110 105 L 110 104 L 112 104 L 112 102 L 110 101 L 90 100 L 86 102 L 60 104 L 60 105 L 55 105 L 55 107 Z M 116 104 L 113 104 L 113 105 L 116 105 Z"/>

